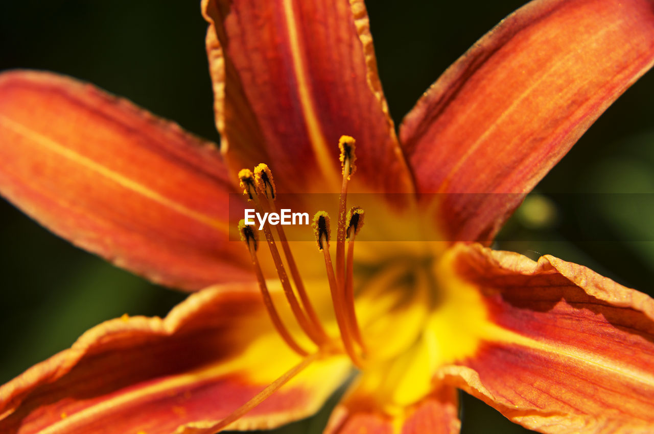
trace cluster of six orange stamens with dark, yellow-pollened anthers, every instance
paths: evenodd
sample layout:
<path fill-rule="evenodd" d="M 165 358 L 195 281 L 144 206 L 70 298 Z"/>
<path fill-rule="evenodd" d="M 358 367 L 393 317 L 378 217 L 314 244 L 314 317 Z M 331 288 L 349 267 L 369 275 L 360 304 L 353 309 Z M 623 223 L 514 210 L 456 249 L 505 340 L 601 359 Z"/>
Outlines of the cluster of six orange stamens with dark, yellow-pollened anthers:
<path fill-rule="evenodd" d="M 286 264 L 292 277 L 295 290 L 292 288 L 291 281 L 288 279 L 286 268 L 282 257 L 277 248 L 277 241 L 273 237 L 269 225 L 264 225 L 264 235 L 270 249 L 270 253 L 277 270 L 279 281 L 284 290 L 286 300 L 290 305 L 290 310 L 296 318 L 302 332 L 318 347 L 318 352 L 340 351 L 342 348 L 352 362 L 362 367 L 365 364 L 366 345 L 362 339 L 360 328 L 356 320 L 354 310 L 353 294 L 353 262 L 354 262 L 354 240 L 356 234 L 361 230 L 364 223 L 364 210 L 353 207 L 347 211 L 347 186 L 348 182 L 356 171 L 354 161 L 355 141 L 350 136 L 342 136 L 339 140 L 341 150 L 340 160 L 343 174 L 343 183 L 341 185 L 341 194 L 339 197 L 338 223 L 336 231 L 336 267 L 332 264 L 330 255 L 330 217 L 325 211 L 318 211 L 313 218 L 313 231 L 318 243 L 318 249 L 322 251 L 325 262 L 327 280 L 330 286 L 334 314 L 338 324 L 339 338 L 334 338 L 326 333 L 323 324 L 320 321 L 311 300 L 307 296 L 304 283 L 300 276 L 300 271 L 294 260 L 286 234 L 282 225 L 275 225 L 277 228 L 277 238 L 282 246 Z M 266 164 L 259 164 L 254 172 L 249 169 L 243 169 L 239 172 L 239 181 L 243 188 L 243 194 L 248 200 L 254 203 L 257 212 L 276 213 L 275 206 L 275 183 L 273 175 Z M 258 259 L 258 237 L 257 232 L 252 226 L 245 225 L 245 221 L 239 222 L 239 232 L 241 239 L 245 241 L 252 258 L 252 264 L 259 283 L 259 288 L 266 305 L 267 313 L 275 326 L 275 330 L 282 337 L 286 345 L 294 350 L 300 356 L 307 356 L 307 351 L 284 324 L 277 308 L 275 307 L 270 293 L 267 289 L 266 279 L 259 264 Z M 346 240 L 347 240 L 347 258 L 346 258 Z M 296 296 L 297 294 L 297 296 Z"/>

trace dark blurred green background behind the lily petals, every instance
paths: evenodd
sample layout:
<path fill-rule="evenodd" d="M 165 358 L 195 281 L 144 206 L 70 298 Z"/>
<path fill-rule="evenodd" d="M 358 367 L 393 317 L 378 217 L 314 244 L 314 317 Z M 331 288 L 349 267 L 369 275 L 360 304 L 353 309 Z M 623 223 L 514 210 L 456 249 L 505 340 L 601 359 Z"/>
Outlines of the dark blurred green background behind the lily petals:
<path fill-rule="evenodd" d="M 218 141 L 199 1 L 2 3 L 0 69 L 47 69 L 88 80 Z M 369 1 L 396 123 L 448 65 L 521 3 Z M 651 294 L 654 243 L 647 240 L 654 240 L 654 207 L 637 206 L 633 198 L 617 204 L 610 194 L 566 200 L 555 193 L 654 193 L 653 114 L 649 74 L 540 183 L 541 196 L 526 202 L 496 247 L 532 258 L 551 253 Z M 543 215 L 549 217 L 538 218 Z M 183 299 L 71 247 L 2 200 L 0 240 L 0 383 L 103 320 L 165 315 Z M 528 432 L 472 397 L 462 394 L 462 403 L 463 433 Z M 275 432 L 320 432 L 327 416 L 328 409 Z"/>

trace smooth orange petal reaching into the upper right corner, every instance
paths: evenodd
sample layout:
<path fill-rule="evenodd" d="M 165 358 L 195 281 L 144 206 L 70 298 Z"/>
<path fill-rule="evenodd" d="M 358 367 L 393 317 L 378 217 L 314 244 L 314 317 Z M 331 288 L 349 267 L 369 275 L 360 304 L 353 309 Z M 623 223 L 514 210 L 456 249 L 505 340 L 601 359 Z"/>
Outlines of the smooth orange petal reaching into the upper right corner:
<path fill-rule="evenodd" d="M 417 189 L 449 194 L 446 234 L 492 239 L 653 63 L 650 0 L 536 0 L 480 39 L 400 127 Z"/>

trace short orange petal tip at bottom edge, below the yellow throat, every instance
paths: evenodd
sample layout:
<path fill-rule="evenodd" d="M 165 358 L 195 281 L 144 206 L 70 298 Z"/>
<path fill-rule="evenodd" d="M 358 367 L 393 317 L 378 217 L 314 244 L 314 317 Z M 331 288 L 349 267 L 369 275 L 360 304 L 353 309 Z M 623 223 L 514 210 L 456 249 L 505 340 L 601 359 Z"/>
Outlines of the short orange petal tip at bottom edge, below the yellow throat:
<path fill-rule="evenodd" d="M 334 409 L 325 434 L 458 434 L 461 422 L 456 393 L 455 388 L 439 384 L 430 395 L 395 415 L 355 394 Z"/>

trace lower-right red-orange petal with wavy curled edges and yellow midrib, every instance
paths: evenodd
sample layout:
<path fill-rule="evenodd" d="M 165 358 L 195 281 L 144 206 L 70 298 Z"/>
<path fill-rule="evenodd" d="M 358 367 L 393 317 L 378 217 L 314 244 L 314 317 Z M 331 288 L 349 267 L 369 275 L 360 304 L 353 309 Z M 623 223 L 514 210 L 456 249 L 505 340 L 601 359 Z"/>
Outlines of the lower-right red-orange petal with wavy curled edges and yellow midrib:
<path fill-rule="evenodd" d="M 545 433 L 654 431 L 654 300 L 553 256 L 457 249 L 492 326 L 441 378 Z"/>

